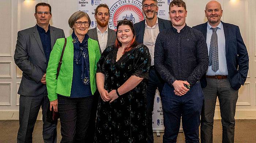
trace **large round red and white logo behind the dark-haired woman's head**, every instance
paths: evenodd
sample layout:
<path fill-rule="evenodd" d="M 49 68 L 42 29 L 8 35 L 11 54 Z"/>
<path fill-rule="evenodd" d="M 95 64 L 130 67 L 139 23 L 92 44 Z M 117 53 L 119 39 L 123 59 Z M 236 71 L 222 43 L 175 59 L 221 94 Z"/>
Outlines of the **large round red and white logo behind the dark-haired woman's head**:
<path fill-rule="evenodd" d="M 141 0 L 140 0 L 141 1 Z M 109 27 L 116 29 L 117 21 L 128 19 L 133 24 L 144 20 L 142 3 L 139 0 L 118 0 L 109 9 Z"/>

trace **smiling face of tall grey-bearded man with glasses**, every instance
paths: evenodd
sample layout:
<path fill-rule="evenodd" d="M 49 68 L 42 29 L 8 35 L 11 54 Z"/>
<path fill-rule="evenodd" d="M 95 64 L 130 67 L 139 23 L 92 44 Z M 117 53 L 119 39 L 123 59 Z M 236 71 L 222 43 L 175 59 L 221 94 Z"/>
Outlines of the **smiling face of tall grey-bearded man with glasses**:
<path fill-rule="evenodd" d="M 154 19 L 157 15 L 158 12 L 158 6 L 157 3 L 154 0 L 145 0 L 143 5 L 148 5 L 148 8 L 143 8 L 142 7 L 142 11 L 144 13 L 144 15 L 146 16 L 147 19 Z M 154 8 L 150 8 L 149 5 L 154 4 L 155 7 Z"/>

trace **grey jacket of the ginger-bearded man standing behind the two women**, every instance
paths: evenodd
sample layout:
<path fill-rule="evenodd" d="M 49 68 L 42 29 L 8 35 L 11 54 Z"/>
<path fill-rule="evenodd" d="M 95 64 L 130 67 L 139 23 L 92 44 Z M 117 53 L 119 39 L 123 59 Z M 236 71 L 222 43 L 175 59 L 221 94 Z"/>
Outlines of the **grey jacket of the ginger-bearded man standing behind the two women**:
<path fill-rule="evenodd" d="M 93 29 L 90 29 L 87 34 L 89 35 L 89 37 L 91 39 L 94 39 L 96 41 L 98 41 L 98 44 L 99 44 L 99 39 L 98 39 L 98 34 L 97 34 L 97 28 L 93 28 Z M 116 42 L 116 31 L 108 28 L 108 42 L 107 42 L 107 45 L 106 47 L 108 46 L 111 46 L 111 45 L 114 45 Z M 99 47 L 99 51 L 102 53 L 103 51 L 101 51 L 101 47 Z"/>

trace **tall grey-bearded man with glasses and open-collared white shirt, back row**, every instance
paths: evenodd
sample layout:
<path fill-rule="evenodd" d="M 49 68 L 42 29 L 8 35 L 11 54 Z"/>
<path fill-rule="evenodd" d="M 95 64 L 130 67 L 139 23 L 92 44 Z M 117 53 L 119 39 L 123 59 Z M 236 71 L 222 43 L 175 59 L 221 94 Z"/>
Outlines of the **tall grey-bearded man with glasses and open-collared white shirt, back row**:
<path fill-rule="evenodd" d="M 147 130 L 148 142 L 153 143 L 153 128 L 152 128 L 152 112 L 154 107 L 155 91 L 158 88 L 161 94 L 163 88 L 163 80 L 155 71 L 154 67 L 154 48 L 155 40 L 159 32 L 171 27 L 172 23 L 169 20 L 164 20 L 157 17 L 158 12 L 157 0 L 142 0 L 142 11 L 146 16 L 145 20 L 134 24 L 136 40 L 138 43 L 143 43 L 149 49 L 151 55 L 151 66 L 149 69 L 149 81 L 147 84 Z"/>

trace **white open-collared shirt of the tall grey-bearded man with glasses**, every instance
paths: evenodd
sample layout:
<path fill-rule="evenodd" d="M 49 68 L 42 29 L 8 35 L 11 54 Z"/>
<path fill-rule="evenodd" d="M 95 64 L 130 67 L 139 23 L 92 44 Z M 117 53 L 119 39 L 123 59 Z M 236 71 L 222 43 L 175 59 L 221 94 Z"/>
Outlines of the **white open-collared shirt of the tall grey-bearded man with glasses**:
<path fill-rule="evenodd" d="M 145 32 L 144 32 L 143 44 L 146 45 L 149 49 L 149 53 L 151 55 L 151 66 L 154 65 L 155 40 L 157 39 L 158 33 L 159 33 L 158 18 L 157 18 L 157 23 L 153 27 L 147 26 L 147 21 L 145 20 Z"/>

